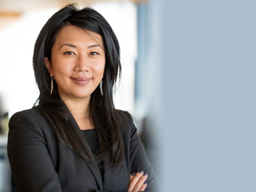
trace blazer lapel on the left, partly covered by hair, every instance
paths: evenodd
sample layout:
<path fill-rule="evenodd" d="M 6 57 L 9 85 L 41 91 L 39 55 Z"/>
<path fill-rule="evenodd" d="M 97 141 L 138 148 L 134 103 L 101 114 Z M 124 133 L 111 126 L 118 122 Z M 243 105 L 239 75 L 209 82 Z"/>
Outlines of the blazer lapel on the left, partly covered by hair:
<path fill-rule="evenodd" d="M 64 103 L 64 102 L 63 102 Z M 65 104 L 65 103 L 64 103 Z M 66 106 L 66 105 L 65 105 Z M 68 107 L 66 106 L 66 108 L 68 109 Z M 72 116 L 72 114 L 69 112 L 69 116 L 71 117 L 74 125 L 75 125 L 75 130 L 78 133 L 80 139 L 83 141 L 83 143 L 85 144 L 86 148 L 89 150 L 89 153 L 92 154 L 92 150 L 89 146 L 89 144 L 87 143 L 86 139 L 84 138 L 84 135 L 82 133 L 82 131 L 80 130 L 78 124 L 76 123 L 76 120 L 74 119 L 74 117 Z M 99 185 L 100 190 L 103 190 L 103 184 L 102 184 L 102 179 L 101 179 L 101 174 L 100 174 L 100 170 L 98 168 L 96 168 L 90 161 L 88 160 L 84 160 L 85 163 L 87 164 L 87 166 L 89 167 L 89 169 L 91 170 L 92 174 L 94 175 L 95 179 L 97 180 L 97 183 Z"/>

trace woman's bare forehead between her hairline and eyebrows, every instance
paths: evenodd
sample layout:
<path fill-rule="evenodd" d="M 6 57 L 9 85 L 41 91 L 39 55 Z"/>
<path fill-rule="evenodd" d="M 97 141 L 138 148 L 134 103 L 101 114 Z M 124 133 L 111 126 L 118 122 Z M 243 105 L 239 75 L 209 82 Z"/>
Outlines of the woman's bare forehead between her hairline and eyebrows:
<path fill-rule="evenodd" d="M 103 39 L 100 34 L 73 25 L 63 27 L 56 36 L 55 44 L 63 43 L 84 44 L 86 46 L 98 43 L 103 47 Z"/>

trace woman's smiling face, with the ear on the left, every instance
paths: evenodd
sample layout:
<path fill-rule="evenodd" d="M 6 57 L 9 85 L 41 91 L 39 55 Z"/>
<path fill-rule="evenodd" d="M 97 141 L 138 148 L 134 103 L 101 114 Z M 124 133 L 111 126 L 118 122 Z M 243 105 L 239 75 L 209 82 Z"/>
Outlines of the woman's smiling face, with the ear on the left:
<path fill-rule="evenodd" d="M 51 60 L 44 58 L 62 98 L 90 97 L 102 79 L 105 67 L 103 39 L 95 32 L 87 32 L 90 35 L 76 26 L 65 26 L 56 36 Z"/>

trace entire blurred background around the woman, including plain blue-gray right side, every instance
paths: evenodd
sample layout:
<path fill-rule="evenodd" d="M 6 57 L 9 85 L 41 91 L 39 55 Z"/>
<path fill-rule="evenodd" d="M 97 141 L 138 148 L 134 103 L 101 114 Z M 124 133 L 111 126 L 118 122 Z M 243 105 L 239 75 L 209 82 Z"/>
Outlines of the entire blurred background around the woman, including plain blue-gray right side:
<path fill-rule="evenodd" d="M 0 0 L 2 191 L 11 183 L 8 119 L 38 96 L 36 37 L 67 3 Z M 123 76 L 115 107 L 134 116 L 164 191 L 255 192 L 256 2 L 76 3 L 99 11 L 116 33 Z"/>

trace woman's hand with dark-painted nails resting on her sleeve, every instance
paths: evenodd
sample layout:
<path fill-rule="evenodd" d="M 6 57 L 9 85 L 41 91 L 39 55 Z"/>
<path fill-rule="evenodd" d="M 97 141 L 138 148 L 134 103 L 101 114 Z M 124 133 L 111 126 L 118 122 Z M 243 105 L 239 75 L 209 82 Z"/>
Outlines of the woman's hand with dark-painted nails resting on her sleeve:
<path fill-rule="evenodd" d="M 135 172 L 132 172 L 130 174 L 130 183 L 127 192 L 138 192 L 138 191 L 144 191 L 147 187 L 147 178 L 148 174 L 144 173 L 140 170 L 135 174 Z"/>

